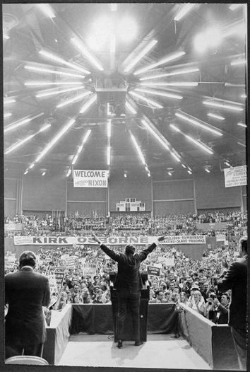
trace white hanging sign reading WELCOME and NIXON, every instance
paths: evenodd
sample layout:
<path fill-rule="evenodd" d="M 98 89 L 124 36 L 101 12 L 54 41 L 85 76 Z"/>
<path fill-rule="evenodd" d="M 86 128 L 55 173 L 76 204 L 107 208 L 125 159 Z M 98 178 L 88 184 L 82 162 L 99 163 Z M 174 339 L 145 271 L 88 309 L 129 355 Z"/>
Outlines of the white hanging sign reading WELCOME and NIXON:
<path fill-rule="evenodd" d="M 108 170 L 73 170 L 74 187 L 107 187 Z"/>

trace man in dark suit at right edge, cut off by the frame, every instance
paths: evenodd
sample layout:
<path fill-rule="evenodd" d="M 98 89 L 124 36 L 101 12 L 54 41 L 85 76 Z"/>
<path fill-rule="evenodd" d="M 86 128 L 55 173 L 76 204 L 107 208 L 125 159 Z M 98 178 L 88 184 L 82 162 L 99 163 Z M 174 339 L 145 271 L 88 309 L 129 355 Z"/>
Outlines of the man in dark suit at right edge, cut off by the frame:
<path fill-rule="evenodd" d="M 229 306 L 228 325 L 231 327 L 234 347 L 237 352 L 239 369 L 246 369 L 246 278 L 247 278 L 247 238 L 239 240 L 240 260 L 232 262 L 222 272 L 218 290 L 232 290 Z"/>

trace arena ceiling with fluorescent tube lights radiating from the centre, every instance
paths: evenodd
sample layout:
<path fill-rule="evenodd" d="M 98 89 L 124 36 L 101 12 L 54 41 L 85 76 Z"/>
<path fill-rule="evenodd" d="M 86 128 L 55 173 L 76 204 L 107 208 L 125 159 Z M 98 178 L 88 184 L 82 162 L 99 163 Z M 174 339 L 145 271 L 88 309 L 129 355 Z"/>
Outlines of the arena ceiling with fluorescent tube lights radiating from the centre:
<path fill-rule="evenodd" d="M 49 6 L 2 6 L 6 174 L 246 163 L 246 6 Z"/>

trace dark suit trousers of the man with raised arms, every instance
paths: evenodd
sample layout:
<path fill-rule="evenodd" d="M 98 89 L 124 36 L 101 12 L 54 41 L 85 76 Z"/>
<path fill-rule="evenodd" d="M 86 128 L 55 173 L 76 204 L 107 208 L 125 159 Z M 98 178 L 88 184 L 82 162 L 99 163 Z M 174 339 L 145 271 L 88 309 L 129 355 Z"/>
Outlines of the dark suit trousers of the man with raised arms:
<path fill-rule="evenodd" d="M 140 340 L 140 298 L 141 291 L 121 289 L 118 291 L 118 339 L 124 339 L 126 316 L 131 313 L 133 322 L 133 339 Z"/>

